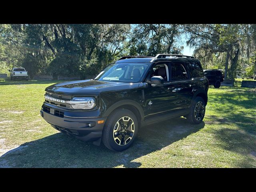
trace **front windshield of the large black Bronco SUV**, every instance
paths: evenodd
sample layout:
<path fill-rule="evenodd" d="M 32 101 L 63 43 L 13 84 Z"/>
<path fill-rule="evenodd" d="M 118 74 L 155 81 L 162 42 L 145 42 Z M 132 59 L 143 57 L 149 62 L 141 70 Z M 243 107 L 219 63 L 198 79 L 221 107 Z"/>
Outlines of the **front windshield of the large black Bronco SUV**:
<path fill-rule="evenodd" d="M 118 63 L 108 66 L 94 80 L 116 82 L 140 82 L 148 68 L 148 64 Z"/>

